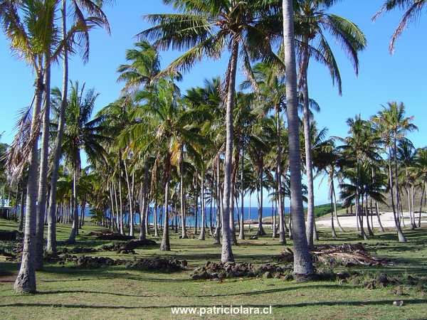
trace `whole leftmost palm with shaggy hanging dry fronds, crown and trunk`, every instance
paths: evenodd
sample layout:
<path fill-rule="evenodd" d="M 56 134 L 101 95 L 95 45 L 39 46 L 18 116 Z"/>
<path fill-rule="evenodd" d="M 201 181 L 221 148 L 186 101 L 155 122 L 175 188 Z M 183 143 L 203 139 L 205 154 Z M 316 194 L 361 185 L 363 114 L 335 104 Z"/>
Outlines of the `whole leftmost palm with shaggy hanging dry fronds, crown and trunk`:
<path fill-rule="evenodd" d="M 40 132 L 38 123 L 45 90 L 43 67 L 45 63 L 50 63 L 50 60 L 57 57 L 51 53 L 51 48 L 56 48 L 56 28 L 53 25 L 55 9 L 56 1 L 54 0 L 0 1 L 0 23 L 6 37 L 11 41 L 11 49 L 20 58 L 26 60 L 36 74 L 31 129 L 23 146 L 26 156 L 22 159 L 25 159 L 24 161 L 29 159 L 29 168 L 23 255 L 21 268 L 14 285 L 16 292 L 36 292 L 37 149 Z M 25 116 L 28 115 L 29 110 Z M 16 142 L 19 142 L 19 137 Z"/>

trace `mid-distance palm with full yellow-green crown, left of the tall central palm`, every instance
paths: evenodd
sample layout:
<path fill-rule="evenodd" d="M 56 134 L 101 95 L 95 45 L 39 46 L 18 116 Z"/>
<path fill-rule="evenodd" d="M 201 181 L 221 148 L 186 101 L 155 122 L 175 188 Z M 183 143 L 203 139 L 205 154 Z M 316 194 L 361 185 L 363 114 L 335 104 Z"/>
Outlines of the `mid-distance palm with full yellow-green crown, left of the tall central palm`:
<path fill-rule="evenodd" d="M 179 89 L 172 80 L 160 79 L 149 91 L 137 93 L 137 100 L 145 104 L 136 110 L 137 123 L 122 133 L 122 144 L 132 145 L 142 154 L 157 150 L 153 171 L 162 163 L 164 167 L 164 230 L 160 250 L 170 250 L 169 244 L 169 189 L 172 166 L 181 161 L 182 146 L 196 154 L 201 142 L 194 130 L 192 114 L 182 109 Z M 149 128 L 147 130 L 147 127 Z M 182 221 L 184 223 L 184 221 Z"/>

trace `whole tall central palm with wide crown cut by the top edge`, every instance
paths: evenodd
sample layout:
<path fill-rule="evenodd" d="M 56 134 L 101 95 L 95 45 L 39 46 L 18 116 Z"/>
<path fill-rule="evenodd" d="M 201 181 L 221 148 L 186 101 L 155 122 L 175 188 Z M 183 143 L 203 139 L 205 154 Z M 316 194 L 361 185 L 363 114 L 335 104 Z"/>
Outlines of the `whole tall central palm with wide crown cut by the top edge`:
<path fill-rule="evenodd" d="M 223 183 L 223 250 L 221 260 L 233 261 L 231 250 L 231 226 L 229 225 L 231 196 L 231 171 L 233 157 L 233 107 L 239 50 L 243 66 L 251 73 L 250 55 L 259 56 L 259 51 L 271 55 L 270 35 L 265 28 L 271 26 L 269 13 L 278 7 L 270 1 L 182 1 L 164 0 L 179 10 L 178 14 L 151 14 L 146 16 L 156 26 L 140 36 L 154 40 L 154 46 L 162 49 L 189 49 L 174 60 L 163 73 L 188 70 L 197 61 L 207 56 L 217 59 L 225 48 L 231 55 L 226 70 L 226 156 Z"/>

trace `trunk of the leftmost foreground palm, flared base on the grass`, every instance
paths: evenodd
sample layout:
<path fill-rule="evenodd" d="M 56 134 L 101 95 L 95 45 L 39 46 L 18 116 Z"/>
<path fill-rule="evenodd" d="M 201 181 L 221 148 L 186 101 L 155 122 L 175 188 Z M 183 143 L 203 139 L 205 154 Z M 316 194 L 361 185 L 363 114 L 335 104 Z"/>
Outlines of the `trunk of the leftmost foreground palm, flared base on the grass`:
<path fill-rule="evenodd" d="M 34 261 L 36 254 L 36 201 L 37 201 L 37 172 L 38 172 L 38 115 L 41 110 L 43 96 L 43 73 L 37 71 L 36 92 L 33 107 L 33 119 L 31 120 L 31 154 L 28 168 L 25 229 L 23 231 L 23 249 L 21 267 L 16 277 L 14 290 L 19 293 L 36 293 L 36 270 Z"/>

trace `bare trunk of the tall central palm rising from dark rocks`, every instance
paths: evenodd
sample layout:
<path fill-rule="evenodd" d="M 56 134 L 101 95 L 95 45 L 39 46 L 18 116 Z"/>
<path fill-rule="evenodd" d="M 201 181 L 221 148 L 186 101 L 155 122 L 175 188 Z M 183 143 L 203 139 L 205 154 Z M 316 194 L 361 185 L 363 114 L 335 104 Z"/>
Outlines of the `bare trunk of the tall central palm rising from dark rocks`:
<path fill-rule="evenodd" d="M 233 166 L 233 107 L 234 92 L 236 90 L 236 69 L 238 60 L 238 39 L 233 38 L 231 44 L 231 58 L 228 70 L 228 88 L 226 100 L 226 157 L 224 162 L 224 188 L 223 188 L 223 216 L 222 216 L 222 262 L 233 262 L 231 250 L 230 226 L 230 199 L 231 195 L 231 169 Z"/>

